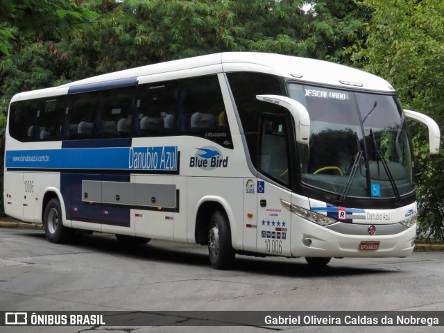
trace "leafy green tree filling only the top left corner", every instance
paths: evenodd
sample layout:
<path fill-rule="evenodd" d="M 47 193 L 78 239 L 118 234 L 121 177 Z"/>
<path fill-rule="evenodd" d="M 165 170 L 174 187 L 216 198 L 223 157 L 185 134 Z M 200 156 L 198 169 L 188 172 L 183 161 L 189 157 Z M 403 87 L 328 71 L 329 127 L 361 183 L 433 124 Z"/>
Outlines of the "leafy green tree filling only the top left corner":
<path fill-rule="evenodd" d="M 84 29 L 94 13 L 66 0 L 0 0 L 0 110 L 10 97 L 57 80 L 51 47 Z"/>

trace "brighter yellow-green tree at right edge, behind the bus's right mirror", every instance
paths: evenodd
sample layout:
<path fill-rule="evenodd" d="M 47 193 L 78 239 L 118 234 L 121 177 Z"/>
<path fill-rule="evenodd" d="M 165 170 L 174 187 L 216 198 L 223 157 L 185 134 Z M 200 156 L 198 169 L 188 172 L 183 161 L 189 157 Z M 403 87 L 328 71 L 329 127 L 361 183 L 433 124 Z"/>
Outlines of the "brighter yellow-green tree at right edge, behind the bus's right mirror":
<path fill-rule="evenodd" d="M 352 60 L 390 80 L 404 107 L 429 114 L 444 133 L 444 2 L 364 0 L 364 6 L 373 15 L 366 40 L 350 48 Z M 414 123 L 411 128 L 419 231 L 444 239 L 444 153 L 431 157 L 425 128 Z"/>

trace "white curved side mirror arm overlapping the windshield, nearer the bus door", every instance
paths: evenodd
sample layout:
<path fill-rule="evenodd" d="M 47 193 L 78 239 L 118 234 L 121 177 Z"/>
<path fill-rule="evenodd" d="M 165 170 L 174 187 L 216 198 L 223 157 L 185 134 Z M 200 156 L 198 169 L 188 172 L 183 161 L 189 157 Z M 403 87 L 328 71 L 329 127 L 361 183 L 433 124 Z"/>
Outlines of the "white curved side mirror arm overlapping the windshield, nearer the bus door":
<path fill-rule="evenodd" d="M 280 105 L 289 110 L 296 126 L 296 142 L 309 144 L 310 139 L 310 116 L 304 105 L 285 96 L 257 95 L 259 101 Z"/>

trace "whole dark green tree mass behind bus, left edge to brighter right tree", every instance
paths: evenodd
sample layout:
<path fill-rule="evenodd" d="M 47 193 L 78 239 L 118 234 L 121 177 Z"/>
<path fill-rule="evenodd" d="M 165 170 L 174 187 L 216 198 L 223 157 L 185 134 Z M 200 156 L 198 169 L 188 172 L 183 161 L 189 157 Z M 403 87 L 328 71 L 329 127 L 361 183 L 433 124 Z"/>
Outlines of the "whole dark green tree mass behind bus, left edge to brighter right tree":
<path fill-rule="evenodd" d="M 0 1 L 3 108 L 20 91 L 205 53 L 339 61 L 365 33 L 353 0 Z"/>

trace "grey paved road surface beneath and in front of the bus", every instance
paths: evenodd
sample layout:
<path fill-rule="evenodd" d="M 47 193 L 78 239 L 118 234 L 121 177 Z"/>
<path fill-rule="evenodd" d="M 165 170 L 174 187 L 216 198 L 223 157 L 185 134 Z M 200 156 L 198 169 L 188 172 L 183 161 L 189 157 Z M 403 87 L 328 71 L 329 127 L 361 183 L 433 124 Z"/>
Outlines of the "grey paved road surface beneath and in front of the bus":
<path fill-rule="evenodd" d="M 237 257 L 216 271 L 202 246 L 151 241 L 125 248 L 113 235 L 78 244 L 46 241 L 42 230 L 0 228 L 0 310 L 444 310 L 444 253 L 409 258 Z M 8 330 L 5 330 L 5 329 Z M 32 330 L 31 330 L 32 328 Z M 281 327 L 282 328 L 282 327 Z M 443 327 L 384 327 L 441 332 Z M 384 330 L 383 329 L 383 330 Z M 0 327 L 0 332 L 268 332 L 265 327 Z M 382 332 L 381 327 L 286 327 L 284 332 Z"/>

